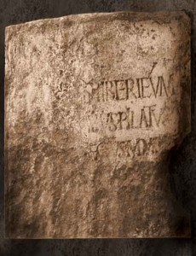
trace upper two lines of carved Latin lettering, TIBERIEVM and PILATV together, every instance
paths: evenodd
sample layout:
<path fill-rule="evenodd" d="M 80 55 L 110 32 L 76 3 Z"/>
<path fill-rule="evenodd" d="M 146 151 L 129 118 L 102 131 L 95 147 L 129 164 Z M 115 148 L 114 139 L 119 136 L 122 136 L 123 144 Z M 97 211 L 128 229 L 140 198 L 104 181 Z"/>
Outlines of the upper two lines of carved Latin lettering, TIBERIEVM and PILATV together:
<path fill-rule="evenodd" d="M 135 137 L 138 130 L 161 131 L 168 121 L 169 103 L 176 96 L 174 83 L 164 75 L 83 82 L 83 88 L 86 132 L 89 135 L 105 132 L 107 137 L 117 140 L 121 137 L 120 141 Z M 126 131 L 125 137 L 122 137 L 122 131 Z"/>

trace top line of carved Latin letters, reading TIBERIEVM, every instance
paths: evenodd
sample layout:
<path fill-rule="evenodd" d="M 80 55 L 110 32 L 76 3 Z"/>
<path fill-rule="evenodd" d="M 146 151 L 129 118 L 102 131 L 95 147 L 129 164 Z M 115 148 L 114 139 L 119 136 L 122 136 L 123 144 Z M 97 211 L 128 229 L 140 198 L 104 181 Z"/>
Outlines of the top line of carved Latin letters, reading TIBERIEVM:
<path fill-rule="evenodd" d="M 168 97 L 173 88 L 166 86 L 163 76 L 140 79 L 101 81 L 84 85 L 84 102 L 126 101 L 145 98 Z"/>

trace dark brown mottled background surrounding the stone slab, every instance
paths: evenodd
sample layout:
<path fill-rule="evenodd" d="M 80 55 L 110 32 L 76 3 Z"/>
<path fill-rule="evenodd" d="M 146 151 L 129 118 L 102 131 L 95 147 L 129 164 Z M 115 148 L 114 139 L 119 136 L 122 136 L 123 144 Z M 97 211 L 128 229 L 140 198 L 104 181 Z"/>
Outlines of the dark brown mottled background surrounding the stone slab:
<path fill-rule="evenodd" d="M 30 20 L 121 10 L 183 10 L 192 20 L 192 132 L 171 154 L 176 197 L 191 214 L 191 239 L 3 239 L 4 28 Z M 196 0 L 0 0 L 0 256 L 189 256 L 196 255 Z"/>

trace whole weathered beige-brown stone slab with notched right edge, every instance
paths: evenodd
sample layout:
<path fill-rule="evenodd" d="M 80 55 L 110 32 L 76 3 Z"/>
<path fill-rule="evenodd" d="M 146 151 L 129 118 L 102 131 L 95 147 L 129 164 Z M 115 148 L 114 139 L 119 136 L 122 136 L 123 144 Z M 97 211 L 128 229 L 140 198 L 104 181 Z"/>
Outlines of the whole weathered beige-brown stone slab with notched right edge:
<path fill-rule="evenodd" d="M 119 12 L 7 27 L 7 236 L 190 235 L 168 167 L 190 131 L 189 23 Z"/>

